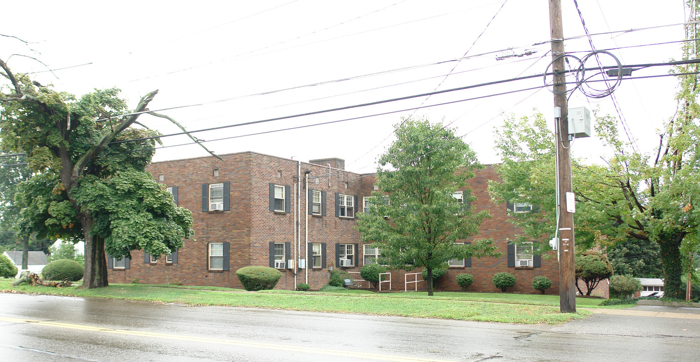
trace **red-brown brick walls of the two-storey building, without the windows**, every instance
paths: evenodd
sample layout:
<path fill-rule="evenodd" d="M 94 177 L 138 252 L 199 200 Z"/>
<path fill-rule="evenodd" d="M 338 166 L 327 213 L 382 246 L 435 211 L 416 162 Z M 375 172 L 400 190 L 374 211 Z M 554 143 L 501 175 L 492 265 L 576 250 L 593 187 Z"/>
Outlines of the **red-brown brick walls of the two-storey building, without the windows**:
<path fill-rule="evenodd" d="M 356 230 L 357 222 L 353 218 L 335 216 L 335 193 L 357 195 L 358 210 L 361 212 L 363 196 L 369 196 L 374 185 L 374 175 L 359 175 L 344 170 L 332 169 L 330 186 L 328 185 L 328 167 L 312 163 L 301 163 L 302 192 L 300 203 L 294 196 L 297 184 L 298 161 L 282 159 L 275 156 L 244 152 L 222 156 L 224 161 L 214 157 L 197 159 L 164 161 L 153 163 L 148 170 L 153 173 L 155 180 L 160 174 L 165 176 L 162 182 L 168 187 L 177 186 L 179 206 L 188 208 L 193 213 L 193 229 L 195 239 L 185 241 L 178 252 L 178 263 L 167 265 L 165 259 L 155 264 L 144 263 L 142 251 L 132 252 L 130 269 L 110 269 L 109 281 L 113 283 L 128 283 L 138 278 L 141 283 L 182 283 L 183 285 L 208 285 L 241 288 L 235 276 L 235 271 L 248 265 L 269 266 L 269 243 L 290 243 L 295 248 L 295 212 L 301 206 L 301 219 L 297 220 L 301 228 L 300 248 L 302 258 L 307 258 L 305 225 L 308 220 L 309 243 L 325 243 L 327 265 L 335 266 L 335 246 L 337 243 L 357 244 L 358 264 L 356 267 L 341 268 L 349 272 L 359 272 L 363 264 L 363 243 Z M 214 169 L 218 168 L 219 175 L 214 177 Z M 304 189 L 304 173 L 310 170 L 311 176 L 318 177 L 318 184 L 312 178 L 309 188 L 325 191 L 326 214 L 323 217 L 307 214 L 307 189 Z M 278 173 L 280 177 L 278 177 Z M 507 267 L 506 241 L 513 238 L 518 229 L 507 222 L 505 205 L 494 204 L 486 189 L 489 180 L 497 177 L 492 166 L 477 170 L 476 176 L 469 180 L 472 194 L 477 200 L 471 207 L 475 212 L 488 209 L 490 219 L 484 219 L 481 231 L 474 238 L 493 238 L 503 253 L 500 258 L 472 258 L 472 267 L 450 268 L 446 276 L 437 281 L 437 290 L 461 290 L 456 284 L 455 276 L 459 273 L 474 275 L 475 281 L 468 290 L 482 292 L 498 292 L 493 287 L 491 278 L 498 272 L 510 272 L 516 276 L 517 283 L 512 288 L 516 293 L 539 293 L 532 288 L 532 279 L 545 275 L 552 280 L 552 288 L 548 294 L 556 294 L 559 290 L 559 268 L 556 254 L 543 255 L 542 267 L 514 268 Z M 230 182 L 230 210 L 221 212 L 202 212 L 202 184 Z M 269 183 L 290 186 L 291 212 L 275 213 L 269 210 Z M 347 186 L 346 186 L 347 185 Z M 346 188 L 347 187 L 347 188 Z M 207 243 L 230 243 L 230 270 L 213 272 L 207 270 Z M 294 255 L 294 253 L 292 253 Z M 293 257 L 294 259 L 297 259 Z M 337 266 L 335 266 L 337 267 Z M 420 269 L 411 272 L 420 272 Z M 392 289 L 404 288 L 404 271 L 392 272 Z M 294 274 L 285 269 L 276 289 L 293 289 L 295 283 L 308 282 L 312 289 L 318 289 L 328 283 L 328 268 L 314 268 L 308 271 L 302 269 L 295 280 Z M 359 274 L 352 274 L 351 279 L 360 279 Z M 419 276 L 419 279 L 422 279 Z M 413 280 L 413 279 L 411 279 Z M 357 283 L 357 282 L 356 282 Z M 361 283 L 367 286 L 367 283 Z M 386 288 L 388 285 L 382 286 Z M 409 285 L 412 289 L 413 285 Z M 426 283 L 419 283 L 419 290 L 424 290 Z"/>

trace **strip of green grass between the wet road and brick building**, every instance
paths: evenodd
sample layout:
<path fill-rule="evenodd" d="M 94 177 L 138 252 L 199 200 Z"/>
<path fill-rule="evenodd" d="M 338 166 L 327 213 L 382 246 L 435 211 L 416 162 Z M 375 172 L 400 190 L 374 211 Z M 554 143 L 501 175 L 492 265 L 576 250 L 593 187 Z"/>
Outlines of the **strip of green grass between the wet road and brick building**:
<path fill-rule="evenodd" d="M 10 289 L 9 281 L 0 281 L 0 289 Z M 27 286 L 12 288 L 22 293 L 75 295 L 79 297 L 111 297 L 130 300 L 150 300 L 165 303 L 195 305 L 225 305 L 288 309 L 298 311 L 330 311 L 383 316 L 458 319 L 503 323 L 564 323 L 591 314 L 561 314 L 556 307 L 479 303 L 465 300 L 427 298 L 397 298 L 372 293 L 209 293 L 207 290 L 150 288 L 139 284 L 113 284 L 105 288 L 50 288 Z"/>

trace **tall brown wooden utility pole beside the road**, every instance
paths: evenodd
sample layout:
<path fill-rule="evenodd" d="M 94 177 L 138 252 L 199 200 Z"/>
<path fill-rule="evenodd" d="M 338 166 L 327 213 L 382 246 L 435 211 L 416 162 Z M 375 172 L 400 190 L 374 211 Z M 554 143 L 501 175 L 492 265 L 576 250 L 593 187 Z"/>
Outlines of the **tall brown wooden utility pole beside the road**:
<path fill-rule="evenodd" d="M 549 32 L 552 36 L 552 69 L 554 70 L 554 107 L 559 107 L 556 119 L 556 173 L 559 189 L 556 206 L 559 211 L 559 311 L 576 312 L 576 274 L 574 264 L 573 213 L 566 208 L 566 194 L 573 192 L 571 182 L 571 157 L 568 139 L 568 105 L 566 100 L 566 69 L 564 68 L 563 27 L 561 25 L 561 0 L 549 0 Z M 573 200 L 572 200 L 573 202 Z"/>

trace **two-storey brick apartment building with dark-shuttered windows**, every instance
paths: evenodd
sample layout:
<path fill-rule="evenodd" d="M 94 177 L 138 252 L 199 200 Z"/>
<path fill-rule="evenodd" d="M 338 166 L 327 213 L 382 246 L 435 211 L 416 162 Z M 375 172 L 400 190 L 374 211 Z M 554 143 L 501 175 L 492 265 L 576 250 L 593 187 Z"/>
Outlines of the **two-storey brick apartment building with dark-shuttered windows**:
<path fill-rule="evenodd" d="M 262 265 L 282 272 L 276 289 L 293 290 L 297 283 L 308 283 L 315 290 L 328 283 L 332 268 L 361 279 L 355 273 L 379 256 L 370 244 L 360 241 L 356 230 L 356 217 L 374 189 L 373 174 L 347 172 L 341 159 L 300 162 L 255 152 L 221 157 L 223 161 L 207 156 L 148 166 L 176 203 L 192 211 L 195 239 L 186 240 L 171 255 L 155 257 L 134 250 L 131 260 L 108 257 L 110 282 L 138 278 L 140 283 L 241 288 L 235 271 Z M 505 241 L 518 230 L 507 221 L 507 206 L 494 204 L 486 190 L 489 180 L 497 177 L 493 166 L 486 166 L 476 170 L 468 183 L 477 197 L 472 210 L 491 212 L 474 239 L 493 238 L 503 257 L 451 260 L 447 275 L 435 288 L 460 290 L 456 274 L 469 273 L 475 278 L 469 290 L 497 292 L 491 283 L 493 274 L 510 272 L 517 279 L 511 289 L 516 293 L 539 293 L 532 288 L 532 279 L 538 275 L 552 280 L 548 293 L 558 293 L 556 254 L 540 257 L 533 255 L 531 246 L 516 247 Z M 305 264 L 303 269 L 300 263 Z M 392 290 L 404 289 L 404 274 L 420 271 L 392 271 Z M 358 283 L 367 286 L 367 282 Z M 425 289 L 426 283 L 418 283 L 418 288 Z"/>

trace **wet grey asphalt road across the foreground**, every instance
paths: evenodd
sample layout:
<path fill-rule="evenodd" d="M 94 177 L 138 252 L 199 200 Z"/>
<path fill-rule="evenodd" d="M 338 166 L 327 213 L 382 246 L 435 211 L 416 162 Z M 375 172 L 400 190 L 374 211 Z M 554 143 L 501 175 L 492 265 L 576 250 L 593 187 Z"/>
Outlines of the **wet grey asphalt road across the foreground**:
<path fill-rule="evenodd" d="M 675 312 L 530 326 L 0 294 L 0 361 L 700 361 L 698 311 Z"/>

